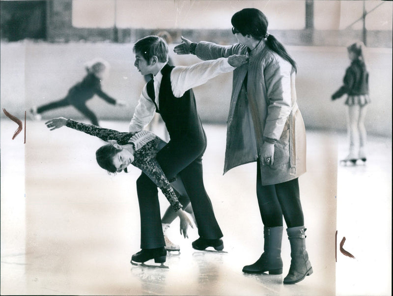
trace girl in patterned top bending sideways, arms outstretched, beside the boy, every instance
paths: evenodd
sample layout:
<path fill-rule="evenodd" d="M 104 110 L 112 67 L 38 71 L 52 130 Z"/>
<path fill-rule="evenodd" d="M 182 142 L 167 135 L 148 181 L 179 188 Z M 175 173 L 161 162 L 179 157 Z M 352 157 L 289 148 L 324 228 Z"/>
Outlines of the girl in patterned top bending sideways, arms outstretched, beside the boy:
<path fill-rule="evenodd" d="M 100 147 L 96 152 L 96 159 L 99 166 L 110 173 L 121 172 L 123 170 L 127 172 L 127 167 L 130 164 L 139 168 L 161 189 L 171 205 L 171 212 L 174 213 L 175 217 L 179 216 L 180 218 L 180 234 L 188 237 L 188 226 L 193 227 L 193 225 L 182 210 L 183 206 L 178 201 L 171 185 L 175 186 L 177 191 L 181 192 L 181 197 L 189 203 L 187 193 L 180 178 L 173 181 L 171 185 L 169 184 L 168 179 L 155 158 L 158 150 L 166 145 L 163 140 L 149 131 L 121 133 L 62 117 L 51 119 L 45 122 L 45 124 L 51 130 L 67 126 L 110 142 Z M 173 217 L 173 215 L 170 217 Z M 171 223 L 175 217 L 170 221 L 167 218 L 167 223 Z M 156 258 L 156 262 L 165 262 L 165 256 L 162 255 Z"/>

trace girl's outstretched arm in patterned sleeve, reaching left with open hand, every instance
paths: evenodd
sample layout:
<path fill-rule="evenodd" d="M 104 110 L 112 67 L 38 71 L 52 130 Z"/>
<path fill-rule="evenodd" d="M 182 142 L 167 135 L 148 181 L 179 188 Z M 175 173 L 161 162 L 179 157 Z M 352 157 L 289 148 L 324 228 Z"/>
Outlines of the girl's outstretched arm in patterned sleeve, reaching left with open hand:
<path fill-rule="evenodd" d="M 119 135 L 122 134 L 116 130 L 102 128 L 102 127 L 95 126 L 92 124 L 82 123 L 82 122 L 78 122 L 78 121 L 63 118 L 63 117 L 53 118 L 53 119 L 45 122 L 45 124 L 51 130 L 60 128 L 62 126 L 67 126 L 72 129 L 76 129 L 81 132 L 84 132 L 88 135 L 98 137 L 104 141 L 117 140 L 119 138 Z"/>

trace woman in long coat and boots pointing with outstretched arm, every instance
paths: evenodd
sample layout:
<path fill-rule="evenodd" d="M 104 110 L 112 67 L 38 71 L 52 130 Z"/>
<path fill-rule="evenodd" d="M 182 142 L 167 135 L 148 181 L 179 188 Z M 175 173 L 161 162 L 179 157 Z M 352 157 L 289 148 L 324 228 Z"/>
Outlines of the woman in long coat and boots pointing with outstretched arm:
<path fill-rule="evenodd" d="M 267 32 L 266 16 L 255 8 L 236 12 L 232 32 L 239 43 L 220 46 L 183 39 L 174 51 L 218 59 L 249 55 L 233 71 L 227 126 L 225 168 L 256 161 L 256 195 L 264 224 L 264 252 L 243 272 L 282 273 L 282 216 L 291 245 L 291 266 L 284 284 L 312 273 L 306 251 L 298 177 L 306 172 L 306 132 L 296 103 L 296 64 L 282 44 Z"/>

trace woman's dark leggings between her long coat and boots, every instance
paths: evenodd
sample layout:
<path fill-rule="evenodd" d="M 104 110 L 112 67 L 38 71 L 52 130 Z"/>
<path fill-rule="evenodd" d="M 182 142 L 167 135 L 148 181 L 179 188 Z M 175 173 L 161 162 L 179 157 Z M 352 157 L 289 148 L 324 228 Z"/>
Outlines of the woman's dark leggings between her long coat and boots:
<path fill-rule="evenodd" d="M 300 203 L 299 179 L 263 186 L 259 160 L 256 170 L 256 196 L 263 225 L 282 226 L 282 216 L 284 216 L 288 228 L 303 226 L 304 215 Z"/>

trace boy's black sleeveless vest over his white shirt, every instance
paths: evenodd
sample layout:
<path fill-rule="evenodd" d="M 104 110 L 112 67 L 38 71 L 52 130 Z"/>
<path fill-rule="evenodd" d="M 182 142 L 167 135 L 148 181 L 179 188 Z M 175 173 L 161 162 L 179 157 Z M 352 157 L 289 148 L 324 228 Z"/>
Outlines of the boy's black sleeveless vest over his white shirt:
<path fill-rule="evenodd" d="M 173 95 L 170 84 L 170 72 L 174 67 L 166 64 L 161 70 L 163 78 L 161 80 L 159 93 L 159 107 L 155 102 L 154 81 L 147 83 L 147 94 L 156 105 L 156 112 L 160 113 L 167 126 L 171 141 L 184 140 L 199 142 L 205 141 L 202 123 L 197 113 L 192 89 L 187 90 L 183 96 L 177 98 Z"/>

